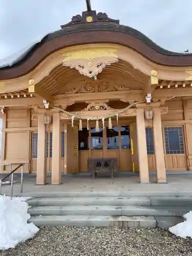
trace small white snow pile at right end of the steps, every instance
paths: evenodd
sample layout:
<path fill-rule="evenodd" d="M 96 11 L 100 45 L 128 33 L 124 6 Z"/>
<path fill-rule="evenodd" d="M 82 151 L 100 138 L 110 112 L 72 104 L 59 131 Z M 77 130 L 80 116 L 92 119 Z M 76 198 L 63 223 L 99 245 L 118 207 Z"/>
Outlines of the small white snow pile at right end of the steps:
<path fill-rule="evenodd" d="M 184 222 L 170 227 L 169 231 L 181 238 L 192 238 L 192 211 L 189 211 L 187 214 L 183 215 L 183 218 L 185 218 Z"/>

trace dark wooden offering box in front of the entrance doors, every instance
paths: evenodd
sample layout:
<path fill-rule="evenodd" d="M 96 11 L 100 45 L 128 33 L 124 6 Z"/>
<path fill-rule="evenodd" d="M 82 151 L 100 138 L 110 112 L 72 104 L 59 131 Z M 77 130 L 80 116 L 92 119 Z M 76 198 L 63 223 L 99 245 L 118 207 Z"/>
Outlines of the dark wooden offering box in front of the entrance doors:
<path fill-rule="evenodd" d="M 88 158 L 88 172 L 93 174 L 93 178 L 97 177 L 97 173 L 114 173 L 119 169 L 118 158 Z"/>

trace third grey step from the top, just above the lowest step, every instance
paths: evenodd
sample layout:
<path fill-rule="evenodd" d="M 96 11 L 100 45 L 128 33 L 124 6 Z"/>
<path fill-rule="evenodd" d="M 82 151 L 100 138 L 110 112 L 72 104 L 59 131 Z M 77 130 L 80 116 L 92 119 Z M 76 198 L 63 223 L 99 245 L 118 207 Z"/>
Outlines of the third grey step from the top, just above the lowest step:
<path fill-rule="evenodd" d="M 28 212 L 39 215 L 93 215 L 93 216 L 183 216 L 190 210 L 182 206 L 104 206 L 104 205 L 68 205 L 35 206 Z"/>

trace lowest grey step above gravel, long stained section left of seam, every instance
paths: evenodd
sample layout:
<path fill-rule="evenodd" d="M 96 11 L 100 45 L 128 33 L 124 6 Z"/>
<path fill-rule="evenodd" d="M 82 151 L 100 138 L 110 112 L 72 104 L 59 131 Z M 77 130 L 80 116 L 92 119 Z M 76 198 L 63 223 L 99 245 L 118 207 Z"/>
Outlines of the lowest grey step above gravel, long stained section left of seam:
<path fill-rule="evenodd" d="M 89 226 L 89 227 L 150 227 L 155 228 L 157 222 L 149 216 L 42 216 L 31 217 L 29 222 L 37 226 Z"/>

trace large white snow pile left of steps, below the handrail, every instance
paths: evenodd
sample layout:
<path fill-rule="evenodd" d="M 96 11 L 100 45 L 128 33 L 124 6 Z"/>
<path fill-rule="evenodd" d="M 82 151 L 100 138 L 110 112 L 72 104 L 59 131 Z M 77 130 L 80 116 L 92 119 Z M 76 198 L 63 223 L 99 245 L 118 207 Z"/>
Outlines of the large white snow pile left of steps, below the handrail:
<path fill-rule="evenodd" d="M 27 223 L 30 218 L 27 210 L 28 198 L 0 196 L 0 250 L 15 247 L 20 242 L 34 237 L 38 228 Z"/>

